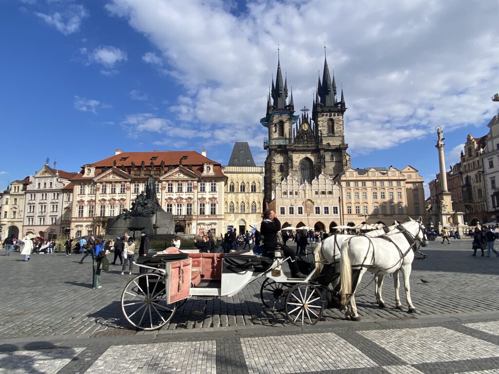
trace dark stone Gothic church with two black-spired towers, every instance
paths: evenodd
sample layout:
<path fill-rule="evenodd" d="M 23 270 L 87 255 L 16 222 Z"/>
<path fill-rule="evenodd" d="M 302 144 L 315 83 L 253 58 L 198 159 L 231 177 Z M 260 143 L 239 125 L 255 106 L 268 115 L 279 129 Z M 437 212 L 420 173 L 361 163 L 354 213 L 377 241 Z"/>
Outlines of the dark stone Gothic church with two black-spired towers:
<path fill-rule="evenodd" d="M 265 159 L 264 199 L 269 202 L 280 182 L 293 176 L 300 184 L 311 183 L 321 173 L 333 178 L 350 168 L 346 153 L 343 115 L 346 110 L 343 89 L 336 99 L 336 82 L 331 80 L 324 56 L 322 81 L 319 77 L 311 117 L 308 109 L 301 116 L 294 114 L 293 93 L 288 101 L 287 78 L 283 82 L 280 61 L 277 61 L 275 82 L 267 98 L 267 113 L 260 123 L 268 129 L 264 142 Z"/>

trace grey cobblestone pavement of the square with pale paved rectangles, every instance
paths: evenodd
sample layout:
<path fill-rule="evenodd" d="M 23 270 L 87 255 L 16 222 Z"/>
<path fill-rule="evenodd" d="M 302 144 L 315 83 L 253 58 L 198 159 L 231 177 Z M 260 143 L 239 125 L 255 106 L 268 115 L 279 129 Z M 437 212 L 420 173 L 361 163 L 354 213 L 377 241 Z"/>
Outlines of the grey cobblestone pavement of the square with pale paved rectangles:
<path fill-rule="evenodd" d="M 388 278 L 379 309 L 366 275 L 361 323 L 326 309 L 301 328 L 265 309 L 255 282 L 232 298 L 185 303 L 159 332 L 130 330 L 121 317 L 131 277 L 118 266 L 93 290 L 80 255 L 0 256 L 0 374 L 499 373 L 499 258 L 470 256 L 470 247 L 424 249 L 411 275 L 415 314 L 394 308 Z"/>

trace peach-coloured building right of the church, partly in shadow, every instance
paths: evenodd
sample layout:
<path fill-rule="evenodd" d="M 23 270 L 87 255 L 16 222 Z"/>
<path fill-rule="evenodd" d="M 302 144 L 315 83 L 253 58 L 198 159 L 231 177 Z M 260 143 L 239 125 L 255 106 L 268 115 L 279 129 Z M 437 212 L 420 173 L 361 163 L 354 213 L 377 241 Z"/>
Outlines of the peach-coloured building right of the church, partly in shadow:
<path fill-rule="evenodd" d="M 347 169 L 335 179 L 341 186 L 343 225 L 405 222 L 425 215 L 423 178 L 411 166 Z"/>

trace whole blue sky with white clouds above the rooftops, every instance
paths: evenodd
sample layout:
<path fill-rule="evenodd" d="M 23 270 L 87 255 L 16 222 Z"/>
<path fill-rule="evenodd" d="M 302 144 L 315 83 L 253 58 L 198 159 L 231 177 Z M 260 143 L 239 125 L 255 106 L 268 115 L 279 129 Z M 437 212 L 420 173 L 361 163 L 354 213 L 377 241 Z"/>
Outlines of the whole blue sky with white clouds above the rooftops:
<path fill-rule="evenodd" d="M 200 152 L 263 165 L 266 95 L 280 62 L 311 108 L 324 43 L 347 111 L 352 167 L 438 173 L 487 134 L 499 91 L 497 1 L 0 0 L 0 187 L 123 151 Z M 52 166 L 52 165 L 51 165 Z"/>

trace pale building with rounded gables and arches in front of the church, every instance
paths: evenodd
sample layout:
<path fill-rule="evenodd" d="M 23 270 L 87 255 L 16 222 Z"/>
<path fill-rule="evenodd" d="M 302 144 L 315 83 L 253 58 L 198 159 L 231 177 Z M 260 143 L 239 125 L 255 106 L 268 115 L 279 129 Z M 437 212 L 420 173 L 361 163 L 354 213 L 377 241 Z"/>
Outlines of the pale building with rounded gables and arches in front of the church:
<path fill-rule="evenodd" d="M 269 208 L 277 214 L 282 227 L 308 226 L 329 232 L 341 223 L 340 195 L 339 185 L 325 174 L 301 184 L 288 176 L 275 188 Z"/>

